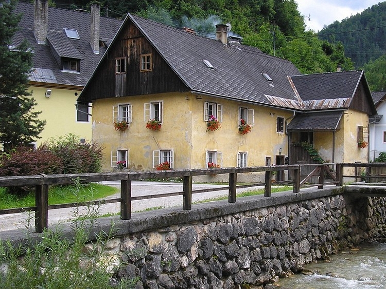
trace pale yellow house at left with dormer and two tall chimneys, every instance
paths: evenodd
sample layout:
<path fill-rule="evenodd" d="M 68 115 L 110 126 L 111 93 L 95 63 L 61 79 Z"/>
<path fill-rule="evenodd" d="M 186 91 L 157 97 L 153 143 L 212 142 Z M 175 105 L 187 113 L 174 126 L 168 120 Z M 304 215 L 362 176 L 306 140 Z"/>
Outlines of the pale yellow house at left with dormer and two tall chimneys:
<path fill-rule="evenodd" d="M 39 117 L 46 120 L 37 144 L 68 133 L 91 141 L 91 107 L 77 103 L 78 94 L 122 21 L 100 17 L 96 3 L 88 13 L 48 7 L 47 0 L 19 1 L 14 13 L 23 17 L 12 46 L 29 42 L 30 90 L 36 110 L 42 111 Z"/>

